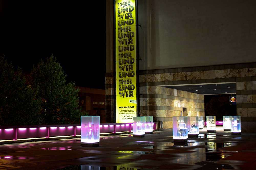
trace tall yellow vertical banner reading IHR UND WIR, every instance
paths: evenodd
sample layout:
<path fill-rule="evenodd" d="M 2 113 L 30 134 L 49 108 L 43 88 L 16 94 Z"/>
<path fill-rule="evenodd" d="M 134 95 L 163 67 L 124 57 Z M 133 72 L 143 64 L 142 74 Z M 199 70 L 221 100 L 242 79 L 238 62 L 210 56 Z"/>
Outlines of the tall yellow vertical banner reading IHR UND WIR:
<path fill-rule="evenodd" d="M 115 1 L 116 123 L 132 122 L 136 102 L 135 0 Z"/>

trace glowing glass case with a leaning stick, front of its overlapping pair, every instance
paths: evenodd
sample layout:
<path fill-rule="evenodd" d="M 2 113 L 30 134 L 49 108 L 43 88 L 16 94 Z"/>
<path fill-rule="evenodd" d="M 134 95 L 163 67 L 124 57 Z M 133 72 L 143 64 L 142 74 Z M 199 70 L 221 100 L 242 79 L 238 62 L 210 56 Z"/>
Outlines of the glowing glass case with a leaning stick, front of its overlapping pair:
<path fill-rule="evenodd" d="M 173 141 L 187 142 L 188 141 L 188 117 L 180 116 L 173 117 Z"/>

